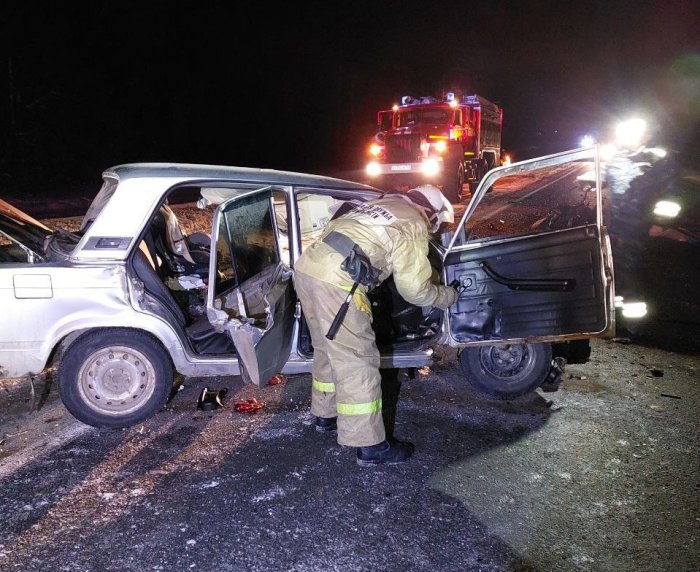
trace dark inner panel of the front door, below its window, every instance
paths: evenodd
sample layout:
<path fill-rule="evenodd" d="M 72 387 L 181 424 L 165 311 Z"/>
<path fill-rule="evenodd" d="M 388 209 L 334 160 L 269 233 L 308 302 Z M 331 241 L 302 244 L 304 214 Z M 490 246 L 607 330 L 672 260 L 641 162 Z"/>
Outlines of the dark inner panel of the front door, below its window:
<path fill-rule="evenodd" d="M 595 227 L 454 253 L 445 268 L 464 288 L 449 311 L 458 342 L 597 334 L 608 326 Z M 496 280 L 493 271 L 512 280 Z"/>

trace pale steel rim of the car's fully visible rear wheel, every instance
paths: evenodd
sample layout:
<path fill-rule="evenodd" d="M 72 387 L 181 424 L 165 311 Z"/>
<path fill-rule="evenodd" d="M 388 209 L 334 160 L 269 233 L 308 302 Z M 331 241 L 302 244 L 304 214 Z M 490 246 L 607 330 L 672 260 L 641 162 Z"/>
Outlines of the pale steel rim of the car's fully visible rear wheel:
<path fill-rule="evenodd" d="M 78 390 L 93 410 L 125 415 L 143 407 L 156 387 L 156 372 L 145 354 L 127 346 L 94 352 L 78 372 Z"/>

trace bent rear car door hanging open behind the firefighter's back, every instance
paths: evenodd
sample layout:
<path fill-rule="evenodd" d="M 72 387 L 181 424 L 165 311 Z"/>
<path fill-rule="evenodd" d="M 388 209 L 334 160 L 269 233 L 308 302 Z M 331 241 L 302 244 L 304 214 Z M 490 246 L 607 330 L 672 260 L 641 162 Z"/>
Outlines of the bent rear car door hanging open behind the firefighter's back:
<path fill-rule="evenodd" d="M 292 346 L 296 296 L 275 217 L 286 197 L 267 187 L 214 215 L 207 315 L 231 336 L 243 379 L 257 385 L 282 371 Z"/>

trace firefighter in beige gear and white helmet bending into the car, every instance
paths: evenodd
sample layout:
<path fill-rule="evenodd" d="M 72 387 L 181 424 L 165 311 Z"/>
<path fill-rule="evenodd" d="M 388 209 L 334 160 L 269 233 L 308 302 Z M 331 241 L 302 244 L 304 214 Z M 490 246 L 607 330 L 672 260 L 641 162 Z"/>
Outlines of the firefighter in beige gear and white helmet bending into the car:
<path fill-rule="evenodd" d="M 349 201 L 296 263 L 295 287 L 314 346 L 316 429 L 337 428 L 338 443 L 356 447 L 361 466 L 400 463 L 414 451 L 412 443 L 393 438 L 393 428 L 384 426 L 382 373 L 386 380 L 396 372 L 380 373 L 367 291 L 393 275 L 407 302 L 451 306 L 457 292 L 436 283 L 428 239 L 443 222 L 453 221 L 452 205 L 431 185 L 364 203 Z M 332 328 L 344 302 L 349 302 L 347 314 Z"/>

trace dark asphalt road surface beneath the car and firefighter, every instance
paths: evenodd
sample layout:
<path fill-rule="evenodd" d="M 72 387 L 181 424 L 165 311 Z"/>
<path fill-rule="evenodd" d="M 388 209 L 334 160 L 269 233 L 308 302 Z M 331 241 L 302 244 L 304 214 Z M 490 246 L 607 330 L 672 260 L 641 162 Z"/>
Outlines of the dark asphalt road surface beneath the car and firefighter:
<path fill-rule="evenodd" d="M 371 469 L 314 430 L 308 375 L 210 380 L 214 412 L 188 379 L 128 430 L 78 423 L 46 381 L 38 411 L 4 387 L 0 570 L 697 570 L 697 355 L 594 342 L 512 402 L 438 357 L 403 384 L 415 456 Z"/>

